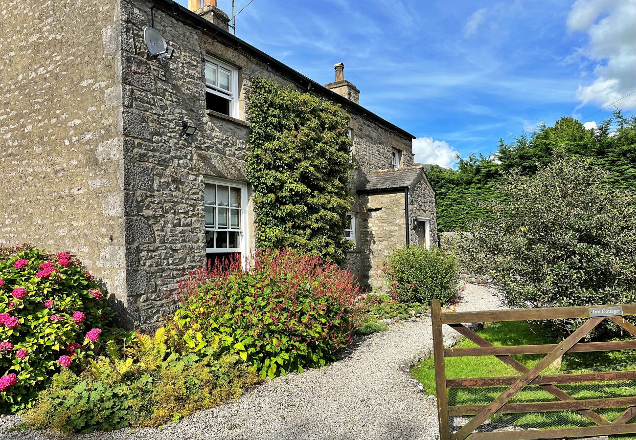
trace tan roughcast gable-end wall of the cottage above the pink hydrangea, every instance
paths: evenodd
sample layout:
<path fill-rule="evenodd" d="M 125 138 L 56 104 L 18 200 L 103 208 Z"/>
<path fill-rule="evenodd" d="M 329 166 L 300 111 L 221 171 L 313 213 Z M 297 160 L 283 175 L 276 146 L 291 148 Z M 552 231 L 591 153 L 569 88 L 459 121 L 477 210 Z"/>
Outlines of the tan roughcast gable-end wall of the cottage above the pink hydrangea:
<path fill-rule="evenodd" d="M 71 251 L 121 299 L 118 1 L 4 1 L 0 17 L 0 245 Z"/>

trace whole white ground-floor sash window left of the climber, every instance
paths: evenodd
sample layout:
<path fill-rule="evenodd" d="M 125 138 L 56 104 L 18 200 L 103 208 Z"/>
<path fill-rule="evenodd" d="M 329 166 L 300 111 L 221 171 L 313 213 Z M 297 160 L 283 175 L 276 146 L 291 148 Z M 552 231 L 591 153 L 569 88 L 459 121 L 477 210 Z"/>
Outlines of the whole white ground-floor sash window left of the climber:
<path fill-rule="evenodd" d="M 209 263 L 247 256 L 247 184 L 205 177 L 205 254 Z"/>

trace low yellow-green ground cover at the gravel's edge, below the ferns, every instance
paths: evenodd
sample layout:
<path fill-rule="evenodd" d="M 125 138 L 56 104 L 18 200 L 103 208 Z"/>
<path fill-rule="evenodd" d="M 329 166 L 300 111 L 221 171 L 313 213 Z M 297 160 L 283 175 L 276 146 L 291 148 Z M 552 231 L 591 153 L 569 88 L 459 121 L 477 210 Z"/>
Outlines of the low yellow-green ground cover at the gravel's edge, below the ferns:
<path fill-rule="evenodd" d="M 156 369 L 96 378 L 63 371 L 41 392 L 25 423 L 60 432 L 156 427 L 236 399 L 260 378 L 235 356 L 175 358 Z M 109 375 L 106 375 L 109 376 Z"/>

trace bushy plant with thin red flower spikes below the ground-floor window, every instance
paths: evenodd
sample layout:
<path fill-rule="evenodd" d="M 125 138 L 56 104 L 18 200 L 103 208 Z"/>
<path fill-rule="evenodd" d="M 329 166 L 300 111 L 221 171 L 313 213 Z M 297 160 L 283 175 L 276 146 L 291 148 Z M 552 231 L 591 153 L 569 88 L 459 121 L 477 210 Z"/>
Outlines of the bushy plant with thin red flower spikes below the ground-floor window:
<path fill-rule="evenodd" d="M 190 272 L 176 318 L 273 378 L 324 366 L 354 336 L 361 289 L 352 274 L 294 251 L 256 252 Z"/>

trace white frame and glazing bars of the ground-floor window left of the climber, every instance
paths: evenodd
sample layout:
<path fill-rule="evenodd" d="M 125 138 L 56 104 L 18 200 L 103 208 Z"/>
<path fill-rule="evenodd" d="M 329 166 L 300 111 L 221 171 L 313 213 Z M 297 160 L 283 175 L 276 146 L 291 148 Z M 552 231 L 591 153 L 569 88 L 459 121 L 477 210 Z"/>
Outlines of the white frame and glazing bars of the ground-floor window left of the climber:
<path fill-rule="evenodd" d="M 231 203 L 231 193 L 228 190 L 228 226 L 227 227 L 218 227 L 218 224 L 216 224 L 215 226 L 208 226 L 208 224 L 205 224 L 205 232 L 207 233 L 208 231 L 227 231 L 228 233 L 230 232 L 238 232 L 239 233 L 239 246 L 238 247 L 225 247 L 225 248 L 215 248 L 215 247 L 206 247 L 205 248 L 205 254 L 225 254 L 225 253 L 233 253 L 233 252 L 237 252 L 241 254 L 242 259 L 246 259 L 247 258 L 247 244 L 248 244 L 248 239 L 249 239 L 249 235 L 248 235 L 248 224 L 247 224 L 247 183 L 245 182 L 240 182 L 240 181 L 231 181 L 228 179 L 218 179 L 216 177 L 205 177 L 204 178 L 204 182 L 206 185 L 223 185 L 223 186 L 229 186 L 230 188 L 239 188 L 240 189 L 240 198 L 241 198 L 241 203 L 240 203 L 240 217 L 239 217 L 239 228 L 232 228 L 231 225 L 231 210 L 232 209 L 232 203 Z M 205 202 L 205 195 L 204 195 L 204 206 L 214 206 L 216 208 L 215 213 L 214 213 L 214 221 L 215 223 L 218 222 L 218 188 L 216 188 L 216 203 L 214 205 L 212 205 L 211 203 L 207 203 Z M 207 245 L 207 240 L 206 243 Z M 229 245 L 229 237 L 228 237 L 228 245 Z"/>

